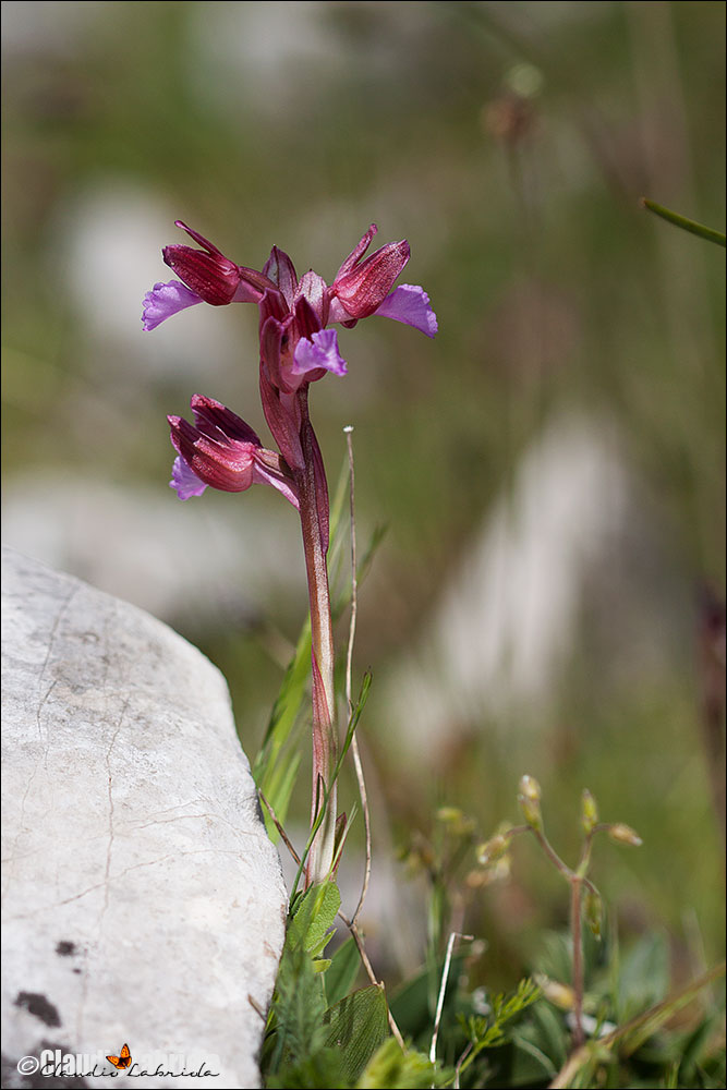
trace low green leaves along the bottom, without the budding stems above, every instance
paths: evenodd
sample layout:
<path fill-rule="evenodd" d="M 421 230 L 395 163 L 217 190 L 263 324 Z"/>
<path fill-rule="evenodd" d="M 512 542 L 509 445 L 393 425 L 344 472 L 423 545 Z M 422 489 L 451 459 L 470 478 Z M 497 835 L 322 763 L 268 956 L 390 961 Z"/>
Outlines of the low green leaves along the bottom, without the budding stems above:
<path fill-rule="evenodd" d="M 451 813 L 445 815 L 449 824 Z M 724 1006 L 708 1004 L 696 1018 L 669 1028 L 723 970 L 669 994 L 668 946 L 661 933 L 646 933 L 621 952 L 613 927 L 601 942 L 584 929 L 585 1044 L 575 1052 L 572 990 L 561 983 L 570 979 L 571 935 L 544 936 L 536 961 L 542 986 L 524 979 L 507 994 L 473 989 L 465 953 L 458 952 L 438 1027 L 440 1066 L 426 1051 L 441 957 L 392 1002 L 393 1017 L 411 1042 L 402 1050 L 389 1033 L 383 988 L 349 991 L 358 974 L 353 940 L 334 958 L 325 956 L 339 907 L 332 883 L 293 898 L 262 1061 L 268 1087 L 423 1090 L 455 1080 L 463 1090 L 546 1088 L 554 1080 L 625 1090 L 724 1086 Z"/>

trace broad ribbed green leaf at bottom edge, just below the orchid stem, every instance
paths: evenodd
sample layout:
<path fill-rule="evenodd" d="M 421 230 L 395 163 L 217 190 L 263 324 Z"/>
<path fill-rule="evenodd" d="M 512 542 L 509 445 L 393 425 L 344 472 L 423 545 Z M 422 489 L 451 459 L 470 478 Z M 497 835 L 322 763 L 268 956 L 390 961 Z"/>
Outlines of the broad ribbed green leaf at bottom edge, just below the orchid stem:
<path fill-rule="evenodd" d="M 340 1050 L 344 1078 L 355 1083 L 366 1064 L 389 1033 L 384 989 L 361 988 L 326 1012 L 328 1047 Z"/>

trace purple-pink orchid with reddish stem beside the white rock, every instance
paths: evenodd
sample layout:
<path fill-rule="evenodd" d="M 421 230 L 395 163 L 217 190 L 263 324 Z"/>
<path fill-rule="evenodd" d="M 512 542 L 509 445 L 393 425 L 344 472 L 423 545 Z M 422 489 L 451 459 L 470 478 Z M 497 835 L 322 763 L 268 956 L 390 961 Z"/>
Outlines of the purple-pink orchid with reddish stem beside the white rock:
<path fill-rule="evenodd" d="M 179 279 L 156 283 L 147 293 L 143 328 L 155 329 L 197 303 L 256 303 L 259 311 L 260 398 L 278 449 L 264 447 L 253 428 L 230 409 L 195 395 L 191 401 L 194 423 L 168 417 L 177 451 L 170 486 L 185 500 L 201 496 L 208 486 L 245 492 L 257 482 L 272 485 L 299 511 L 311 609 L 312 828 L 318 823 L 306 863 L 306 884 L 311 885 L 329 877 L 336 862 L 334 770 L 339 743 L 327 568 L 329 498 L 323 456 L 308 414 L 308 391 L 312 383 L 328 372 L 347 373 L 331 325 L 352 328 L 361 318 L 378 315 L 434 337 L 437 319 L 423 288 L 393 287 L 409 261 L 407 241 L 391 242 L 365 257 L 377 232 L 375 223 L 330 286 L 313 269 L 299 279 L 290 257 L 277 246 L 257 271 L 237 265 L 180 220 L 177 227 L 202 249 L 165 247 L 165 263 Z"/>

